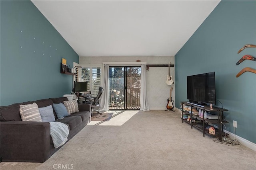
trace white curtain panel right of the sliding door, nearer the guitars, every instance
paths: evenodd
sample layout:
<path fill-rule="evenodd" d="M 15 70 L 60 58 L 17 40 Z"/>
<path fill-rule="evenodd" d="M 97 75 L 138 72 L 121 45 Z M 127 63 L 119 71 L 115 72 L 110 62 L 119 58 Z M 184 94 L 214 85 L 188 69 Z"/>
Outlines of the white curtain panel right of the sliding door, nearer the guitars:
<path fill-rule="evenodd" d="M 140 81 L 140 110 L 149 111 L 148 99 L 146 93 L 146 64 L 141 65 Z"/>

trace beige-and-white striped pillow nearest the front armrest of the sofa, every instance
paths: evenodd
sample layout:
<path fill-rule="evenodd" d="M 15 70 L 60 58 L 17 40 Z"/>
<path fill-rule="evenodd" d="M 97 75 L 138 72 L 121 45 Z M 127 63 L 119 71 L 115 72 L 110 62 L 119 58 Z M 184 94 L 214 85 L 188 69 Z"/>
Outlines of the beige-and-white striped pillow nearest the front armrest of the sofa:
<path fill-rule="evenodd" d="M 20 117 L 22 121 L 42 121 L 36 103 L 20 105 Z"/>

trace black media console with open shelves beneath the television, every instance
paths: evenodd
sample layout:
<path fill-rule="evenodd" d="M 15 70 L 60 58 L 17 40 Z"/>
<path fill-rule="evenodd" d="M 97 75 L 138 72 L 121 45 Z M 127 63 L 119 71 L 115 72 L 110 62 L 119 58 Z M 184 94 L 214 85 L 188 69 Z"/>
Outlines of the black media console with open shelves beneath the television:
<path fill-rule="evenodd" d="M 197 115 L 198 111 L 196 108 L 201 109 L 203 113 L 205 111 L 217 112 L 218 119 L 204 119 L 204 114 L 202 114 L 202 117 L 199 117 Z M 200 131 L 203 132 L 203 136 L 204 134 L 212 135 L 209 133 L 209 130 L 206 129 L 206 127 L 210 125 L 214 127 L 214 129 L 216 129 L 214 136 L 218 137 L 220 141 L 222 140 L 222 136 L 225 135 L 225 133 L 223 132 L 222 123 L 228 123 L 228 121 L 223 119 L 223 112 L 228 111 L 227 109 L 220 108 L 220 107 L 212 107 L 212 109 L 210 109 L 210 106 L 201 107 L 196 104 L 192 104 L 188 102 L 181 102 L 181 109 L 182 109 L 182 117 L 181 117 L 182 123 L 184 122 L 184 119 L 185 119 L 185 122 L 191 125 L 191 129 L 193 127 L 195 127 L 196 129 L 199 129 Z M 190 115 L 191 121 L 187 121 L 187 117 L 185 117 L 184 115 Z M 226 135 L 228 134 L 226 133 Z"/>

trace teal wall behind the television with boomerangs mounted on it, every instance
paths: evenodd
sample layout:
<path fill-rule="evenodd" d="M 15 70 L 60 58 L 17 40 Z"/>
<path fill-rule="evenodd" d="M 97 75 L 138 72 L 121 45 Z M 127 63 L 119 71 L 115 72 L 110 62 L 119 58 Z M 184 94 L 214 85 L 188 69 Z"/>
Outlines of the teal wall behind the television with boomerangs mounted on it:
<path fill-rule="evenodd" d="M 216 99 L 229 111 L 224 115 L 230 123 L 227 131 L 256 143 L 256 62 L 246 60 L 236 66 L 244 55 L 256 57 L 256 48 L 238 50 L 246 44 L 256 45 L 256 1 L 221 1 L 175 55 L 176 107 L 187 100 L 186 76 L 215 71 Z M 216 102 L 216 106 L 221 106 Z"/>

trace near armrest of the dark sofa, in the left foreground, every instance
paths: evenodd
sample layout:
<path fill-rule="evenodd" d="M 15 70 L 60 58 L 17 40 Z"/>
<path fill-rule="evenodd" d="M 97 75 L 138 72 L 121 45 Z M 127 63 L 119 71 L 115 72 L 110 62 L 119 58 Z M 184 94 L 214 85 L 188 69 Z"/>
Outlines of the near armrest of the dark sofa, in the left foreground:
<path fill-rule="evenodd" d="M 50 123 L 1 121 L 1 157 L 10 162 L 44 162 L 50 155 Z"/>

